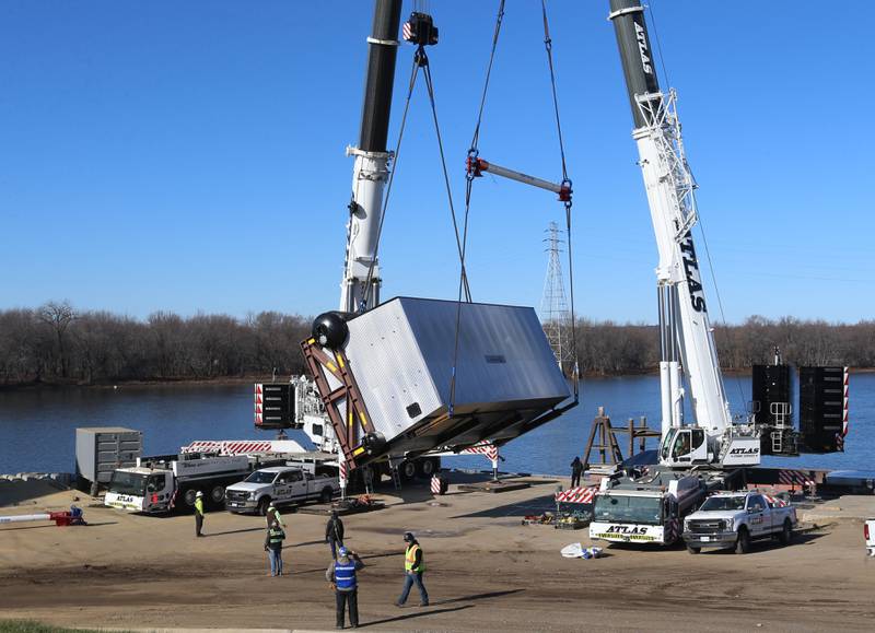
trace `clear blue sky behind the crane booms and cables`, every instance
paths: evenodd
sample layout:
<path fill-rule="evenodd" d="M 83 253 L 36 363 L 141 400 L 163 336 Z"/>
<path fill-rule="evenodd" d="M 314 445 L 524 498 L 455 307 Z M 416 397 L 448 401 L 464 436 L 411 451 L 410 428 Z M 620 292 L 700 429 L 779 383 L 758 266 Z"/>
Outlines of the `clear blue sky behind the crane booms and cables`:
<path fill-rule="evenodd" d="M 498 2 L 430 4 L 460 206 Z M 508 4 L 481 155 L 558 180 L 539 3 Z M 549 3 L 575 186 L 578 312 L 653 323 L 656 253 L 607 4 Z M 726 318 L 872 318 L 865 12 L 814 0 L 768 10 L 651 4 Z M 404 14 L 411 9 L 406 2 Z M 62 298 L 136 317 L 336 308 L 352 169 L 343 150 L 358 141 L 371 12 L 364 0 L 4 0 L 0 308 Z M 412 51 L 399 51 L 390 144 Z M 476 301 L 538 305 L 551 220 L 561 222 L 562 209 L 550 194 L 489 176 L 476 183 Z M 424 85 L 381 260 L 384 297 L 455 297 Z M 716 319 L 710 280 L 707 289 Z"/>

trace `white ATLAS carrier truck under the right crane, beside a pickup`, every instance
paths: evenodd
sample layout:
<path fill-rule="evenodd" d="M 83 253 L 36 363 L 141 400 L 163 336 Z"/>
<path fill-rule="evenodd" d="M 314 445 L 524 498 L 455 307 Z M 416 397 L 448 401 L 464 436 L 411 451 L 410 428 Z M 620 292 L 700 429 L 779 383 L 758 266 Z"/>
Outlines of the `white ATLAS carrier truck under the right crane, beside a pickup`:
<path fill-rule="evenodd" d="M 702 479 L 657 470 L 651 476 L 602 480 L 593 501 L 590 538 L 667 546 L 707 494 Z"/>

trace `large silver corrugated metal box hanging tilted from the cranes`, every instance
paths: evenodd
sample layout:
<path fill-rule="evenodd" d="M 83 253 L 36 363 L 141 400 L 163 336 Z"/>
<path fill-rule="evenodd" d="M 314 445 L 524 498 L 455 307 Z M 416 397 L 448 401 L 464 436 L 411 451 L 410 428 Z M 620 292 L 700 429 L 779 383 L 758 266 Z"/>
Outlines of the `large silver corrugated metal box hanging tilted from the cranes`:
<path fill-rule="evenodd" d="M 455 415 L 445 419 L 457 306 L 398 297 L 349 321 L 350 367 L 374 426 L 396 453 L 433 448 L 456 436 L 495 436 L 570 396 L 534 309 L 463 303 Z"/>

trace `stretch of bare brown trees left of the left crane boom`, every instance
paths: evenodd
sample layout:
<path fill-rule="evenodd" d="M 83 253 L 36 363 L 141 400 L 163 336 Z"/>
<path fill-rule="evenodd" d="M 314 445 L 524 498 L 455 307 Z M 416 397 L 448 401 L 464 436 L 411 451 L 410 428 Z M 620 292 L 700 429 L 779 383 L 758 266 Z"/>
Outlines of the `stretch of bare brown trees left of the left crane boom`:
<path fill-rule="evenodd" d="M 100 384 L 301 373 L 311 319 L 262 312 L 145 320 L 50 302 L 0 312 L 0 384 Z"/>

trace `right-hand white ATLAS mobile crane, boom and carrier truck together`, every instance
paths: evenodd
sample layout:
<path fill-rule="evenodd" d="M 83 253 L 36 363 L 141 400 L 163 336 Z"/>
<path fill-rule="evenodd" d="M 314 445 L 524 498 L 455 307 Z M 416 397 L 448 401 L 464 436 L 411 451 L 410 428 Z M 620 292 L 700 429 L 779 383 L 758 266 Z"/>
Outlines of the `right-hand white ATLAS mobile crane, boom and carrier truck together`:
<path fill-rule="evenodd" d="M 738 485 L 744 467 L 760 460 L 759 429 L 730 413 L 692 238 L 698 221 L 696 183 L 680 133 L 674 90 L 656 77 L 640 0 L 610 0 L 656 236 L 661 444 L 646 474 L 618 473 L 595 495 L 592 538 L 667 544 L 680 538 L 685 515 L 705 495 Z M 685 386 L 686 379 L 686 386 Z M 684 424 L 689 398 L 693 423 Z"/>

